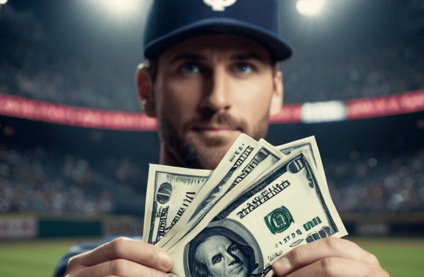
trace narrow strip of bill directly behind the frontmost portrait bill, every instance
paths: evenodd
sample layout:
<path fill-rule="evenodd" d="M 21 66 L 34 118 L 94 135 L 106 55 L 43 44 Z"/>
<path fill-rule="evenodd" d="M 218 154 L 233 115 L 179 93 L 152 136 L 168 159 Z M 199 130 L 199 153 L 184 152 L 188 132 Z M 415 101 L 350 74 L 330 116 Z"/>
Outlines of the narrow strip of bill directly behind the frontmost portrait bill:
<path fill-rule="evenodd" d="M 212 186 L 208 194 L 204 197 L 202 193 L 199 193 L 193 201 L 190 211 L 187 210 L 185 219 L 181 219 L 180 229 L 175 226 L 175 231 L 178 231 L 173 238 L 171 238 L 163 248 L 165 250 L 170 249 L 175 243 L 179 242 L 185 234 L 190 232 L 194 226 L 199 223 L 202 218 L 213 208 L 213 206 L 224 197 L 227 193 L 231 192 L 236 186 L 243 186 L 242 184 L 251 184 L 257 179 L 262 173 L 267 171 L 273 164 L 278 160 L 284 158 L 283 155 L 277 149 L 275 149 L 266 140 L 261 139 L 256 144 L 256 147 L 251 151 L 246 151 L 245 155 L 242 155 L 238 160 L 234 162 L 231 168 L 224 171 L 225 176 L 221 174 L 219 178 L 211 178 L 202 188 L 203 190 L 210 190 L 207 186 Z M 232 172 L 229 175 L 229 172 Z M 187 222 L 187 219 L 189 221 Z M 184 225 L 182 225 L 184 223 Z"/>

